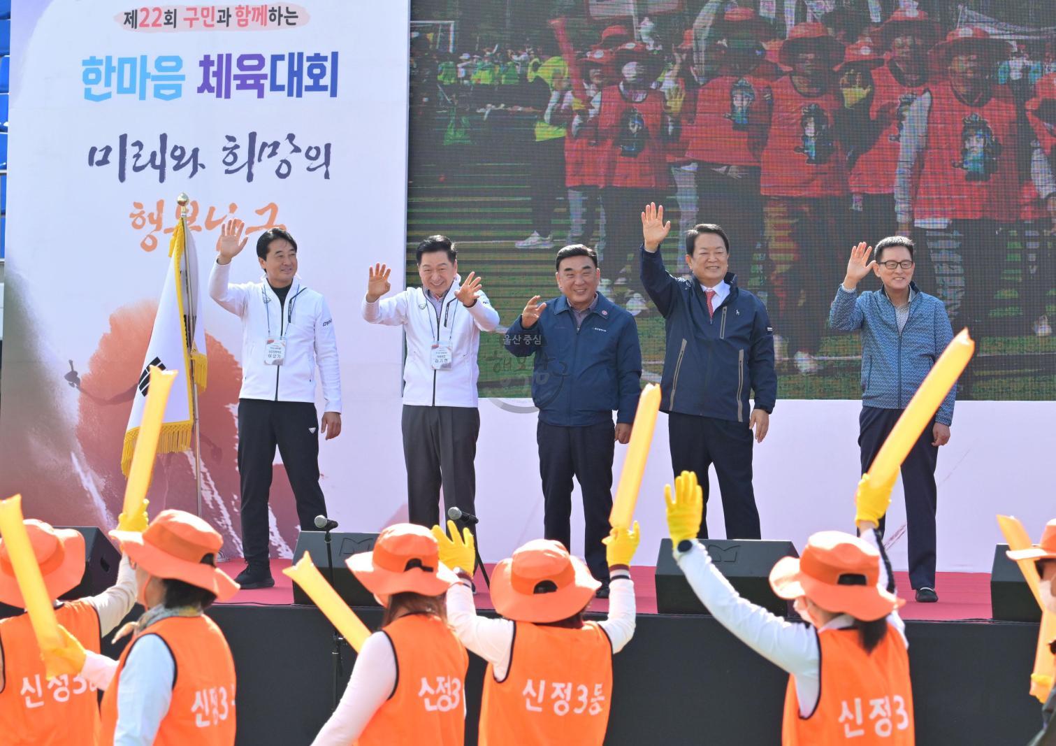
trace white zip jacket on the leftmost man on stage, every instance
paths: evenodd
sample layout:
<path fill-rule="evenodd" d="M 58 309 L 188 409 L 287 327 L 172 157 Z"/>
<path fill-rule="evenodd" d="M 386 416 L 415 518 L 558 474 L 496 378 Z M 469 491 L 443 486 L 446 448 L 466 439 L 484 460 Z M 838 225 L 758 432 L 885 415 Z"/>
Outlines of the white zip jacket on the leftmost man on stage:
<path fill-rule="evenodd" d="M 315 402 L 316 369 L 325 412 L 341 412 L 341 368 L 334 317 L 326 300 L 298 276 L 280 302 L 264 278 L 232 284 L 231 263 L 213 262 L 209 297 L 242 320 L 242 390 L 239 398 Z M 268 340 L 285 339 L 281 366 L 264 362 Z"/>

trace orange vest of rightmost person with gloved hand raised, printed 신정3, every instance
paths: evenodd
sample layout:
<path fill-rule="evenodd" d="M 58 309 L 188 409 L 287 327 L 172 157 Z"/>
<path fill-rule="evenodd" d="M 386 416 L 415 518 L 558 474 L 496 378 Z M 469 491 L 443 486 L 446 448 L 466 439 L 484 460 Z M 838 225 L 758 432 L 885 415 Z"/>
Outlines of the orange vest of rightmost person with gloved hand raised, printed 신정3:
<path fill-rule="evenodd" d="M 888 626 L 880 645 L 866 653 L 855 629 L 825 630 L 821 696 L 809 717 L 799 714 L 795 682 L 785 693 L 784 746 L 912 746 L 913 693 L 909 654 L 902 635 Z"/>

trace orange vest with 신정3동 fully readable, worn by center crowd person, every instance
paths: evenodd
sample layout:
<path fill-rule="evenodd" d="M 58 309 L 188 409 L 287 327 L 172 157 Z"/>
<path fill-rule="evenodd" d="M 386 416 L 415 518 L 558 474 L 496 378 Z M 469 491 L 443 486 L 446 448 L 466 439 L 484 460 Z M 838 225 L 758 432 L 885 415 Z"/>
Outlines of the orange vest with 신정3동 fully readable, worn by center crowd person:
<path fill-rule="evenodd" d="M 480 746 L 601 746 L 612 700 L 612 644 L 597 623 L 582 629 L 516 622 L 506 678 L 488 665 Z"/>

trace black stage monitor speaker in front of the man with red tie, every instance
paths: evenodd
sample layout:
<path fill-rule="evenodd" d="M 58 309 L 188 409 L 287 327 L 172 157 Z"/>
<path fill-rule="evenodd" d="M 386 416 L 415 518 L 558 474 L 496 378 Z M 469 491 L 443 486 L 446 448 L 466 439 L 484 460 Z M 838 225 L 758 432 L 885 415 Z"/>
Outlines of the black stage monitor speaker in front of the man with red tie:
<path fill-rule="evenodd" d="M 791 602 L 774 595 L 769 578 L 781 557 L 799 556 L 791 541 L 702 539 L 701 543 L 737 593 L 778 616 L 789 615 Z M 657 611 L 661 614 L 708 614 L 672 557 L 671 539 L 660 542 L 656 583 Z"/>

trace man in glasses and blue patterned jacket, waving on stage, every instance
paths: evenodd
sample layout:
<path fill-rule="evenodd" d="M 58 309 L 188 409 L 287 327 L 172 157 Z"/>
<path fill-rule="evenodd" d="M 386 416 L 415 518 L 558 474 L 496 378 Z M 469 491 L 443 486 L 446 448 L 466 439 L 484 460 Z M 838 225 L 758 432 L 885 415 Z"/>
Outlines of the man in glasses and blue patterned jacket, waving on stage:
<path fill-rule="evenodd" d="M 954 338 L 942 301 L 921 293 L 913 284 L 913 242 L 891 236 L 871 246 L 851 249 L 847 276 L 836 291 L 829 325 L 841 332 L 862 333 L 862 413 L 859 446 L 862 473 L 909 404 L 921 381 Z M 870 272 L 884 286 L 857 293 L 855 287 Z M 909 537 L 909 583 L 917 600 L 939 600 L 935 592 L 935 467 L 939 446 L 949 442 L 954 418 L 955 385 L 943 399 L 930 428 L 925 428 L 902 464 Z M 880 530 L 884 530 L 883 520 Z"/>

